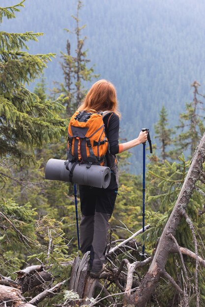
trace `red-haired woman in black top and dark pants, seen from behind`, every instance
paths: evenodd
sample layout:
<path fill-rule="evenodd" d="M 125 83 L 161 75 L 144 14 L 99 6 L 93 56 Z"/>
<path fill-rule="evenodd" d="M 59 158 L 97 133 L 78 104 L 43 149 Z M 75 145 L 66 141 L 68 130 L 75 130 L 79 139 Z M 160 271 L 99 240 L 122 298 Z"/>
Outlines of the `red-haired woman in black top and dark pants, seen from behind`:
<path fill-rule="evenodd" d="M 141 131 L 139 136 L 132 141 L 118 144 L 120 115 L 117 110 L 117 94 L 114 85 L 107 80 L 102 79 L 94 83 L 84 102 L 78 108 L 79 111 L 88 109 L 110 111 L 105 112 L 103 116 L 110 150 L 110 153 L 106 154 L 107 166 L 111 168 L 110 185 L 106 189 L 85 185 L 79 187 L 82 212 L 80 250 L 83 254 L 90 251 L 90 276 L 98 278 L 105 261 L 108 221 L 113 213 L 117 197 L 118 179 L 115 154 L 146 142 L 147 131 Z"/>

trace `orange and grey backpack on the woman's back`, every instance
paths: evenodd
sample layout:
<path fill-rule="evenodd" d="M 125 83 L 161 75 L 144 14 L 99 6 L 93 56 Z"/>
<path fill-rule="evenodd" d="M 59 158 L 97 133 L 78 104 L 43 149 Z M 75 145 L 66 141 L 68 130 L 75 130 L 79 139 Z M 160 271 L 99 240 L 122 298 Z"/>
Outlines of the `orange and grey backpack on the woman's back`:
<path fill-rule="evenodd" d="M 103 117 L 110 111 L 76 111 L 68 125 L 67 159 L 78 163 L 104 165 L 108 151 Z"/>

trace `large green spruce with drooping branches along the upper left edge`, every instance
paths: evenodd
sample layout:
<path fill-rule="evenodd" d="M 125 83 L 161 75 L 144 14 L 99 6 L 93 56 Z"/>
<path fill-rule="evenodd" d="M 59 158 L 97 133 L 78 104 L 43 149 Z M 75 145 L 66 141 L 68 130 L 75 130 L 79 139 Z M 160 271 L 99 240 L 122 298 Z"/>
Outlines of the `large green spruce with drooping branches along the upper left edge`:
<path fill-rule="evenodd" d="M 15 18 L 23 2 L 0 7 L 0 21 Z M 41 102 L 26 88 L 54 57 L 53 53 L 33 55 L 21 50 L 28 50 L 27 42 L 37 41 L 42 34 L 0 32 L 0 157 L 16 163 L 34 162 L 34 147 L 65 133 L 65 120 L 57 114 L 62 110 L 62 97 Z"/>

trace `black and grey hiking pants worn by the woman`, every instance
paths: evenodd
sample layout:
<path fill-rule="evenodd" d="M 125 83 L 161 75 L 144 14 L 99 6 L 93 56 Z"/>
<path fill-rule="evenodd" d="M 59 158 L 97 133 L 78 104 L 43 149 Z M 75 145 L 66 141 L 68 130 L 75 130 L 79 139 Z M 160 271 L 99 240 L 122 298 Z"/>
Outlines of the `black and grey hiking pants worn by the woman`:
<path fill-rule="evenodd" d="M 82 220 L 80 242 L 82 253 L 90 251 L 90 268 L 99 272 L 105 262 L 109 219 L 113 213 L 117 189 L 79 186 Z"/>

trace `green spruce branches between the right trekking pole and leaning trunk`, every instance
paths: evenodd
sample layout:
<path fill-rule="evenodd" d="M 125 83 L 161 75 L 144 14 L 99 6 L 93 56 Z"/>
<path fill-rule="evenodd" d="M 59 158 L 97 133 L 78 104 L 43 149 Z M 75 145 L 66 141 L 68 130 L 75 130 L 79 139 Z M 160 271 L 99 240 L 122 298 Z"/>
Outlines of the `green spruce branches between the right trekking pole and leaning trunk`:
<path fill-rule="evenodd" d="M 149 205 L 151 204 L 151 207 L 157 210 L 157 212 L 146 212 L 146 223 L 151 225 L 151 227 L 146 230 L 148 249 L 150 250 L 156 245 L 157 240 L 159 239 L 173 210 L 186 177 L 189 164 L 190 162 L 186 162 L 182 155 L 179 157 L 179 162 L 170 163 L 165 160 L 164 163 L 159 162 L 158 164 L 155 163 L 154 165 L 148 166 L 148 178 L 151 179 L 151 182 L 148 186 L 149 197 L 147 200 Z M 150 193 L 153 193 L 154 195 L 150 195 Z M 195 204 L 195 208 L 197 210 L 198 205 Z M 196 216 L 196 210 L 194 216 Z M 185 221 L 180 223 L 176 237 L 179 245 L 187 246 L 187 244 L 190 243 L 190 230 Z"/>

